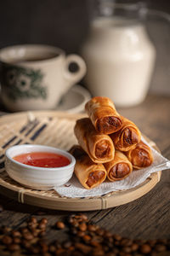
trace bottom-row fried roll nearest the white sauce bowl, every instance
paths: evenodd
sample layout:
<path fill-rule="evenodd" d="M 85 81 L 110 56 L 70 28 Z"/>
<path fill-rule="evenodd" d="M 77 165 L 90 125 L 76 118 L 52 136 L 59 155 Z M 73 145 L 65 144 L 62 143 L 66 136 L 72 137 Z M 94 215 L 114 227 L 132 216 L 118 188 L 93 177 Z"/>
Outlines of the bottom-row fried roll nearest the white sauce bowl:
<path fill-rule="evenodd" d="M 77 160 L 74 172 L 85 189 L 93 189 L 105 181 L 105 166 L 95 164 L 78 145 L 73 146 L 70 153 Z"/>

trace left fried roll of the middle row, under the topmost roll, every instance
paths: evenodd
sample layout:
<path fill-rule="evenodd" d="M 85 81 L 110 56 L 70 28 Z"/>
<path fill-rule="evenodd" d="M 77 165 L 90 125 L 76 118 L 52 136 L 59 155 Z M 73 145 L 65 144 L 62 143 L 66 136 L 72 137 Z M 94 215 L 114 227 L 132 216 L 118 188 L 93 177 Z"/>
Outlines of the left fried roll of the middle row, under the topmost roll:
<path fill-rule="evenodd" d="M 111 137 L 95 131 L 90 119 L 78 119 L 74 131 L 78 143 L 94 163 L 105 163 L 114 158 L 115 147 Z"/>

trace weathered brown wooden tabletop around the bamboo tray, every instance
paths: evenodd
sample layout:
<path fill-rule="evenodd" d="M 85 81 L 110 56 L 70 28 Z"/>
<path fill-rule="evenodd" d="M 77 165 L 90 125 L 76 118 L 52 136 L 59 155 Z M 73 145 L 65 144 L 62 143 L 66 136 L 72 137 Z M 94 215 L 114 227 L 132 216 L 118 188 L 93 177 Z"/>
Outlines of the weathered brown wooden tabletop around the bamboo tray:
<path fill-rule="evenodd" d="M 118 109 L 122 115 L 132 119 L 139 129 L 153 140 L 161 154 L 170 159 L 170 97 L 147 96 L 145 101 L 134 108 Z M 39 209 L 1 195 L 0 223 L 18 229 L 31 216 L 48 218 L 53 225 L 72 212 Z M 42 215 L 39 216 L 39 211 Z M 163 171 L 161 181 L 148 194 L 126 205 L 107 210 L 85 212 L 95 224 L 130 238 L 170 238 L 170 172 Z M 62 236 L 61 236 L 62 234 Z M 49 230 L 48 240 L 65 239 L 65 231 Z M 3 255 L 3 254 L 2 254 Z M 5 254 L 6 255 L 6 254 Z"/>

